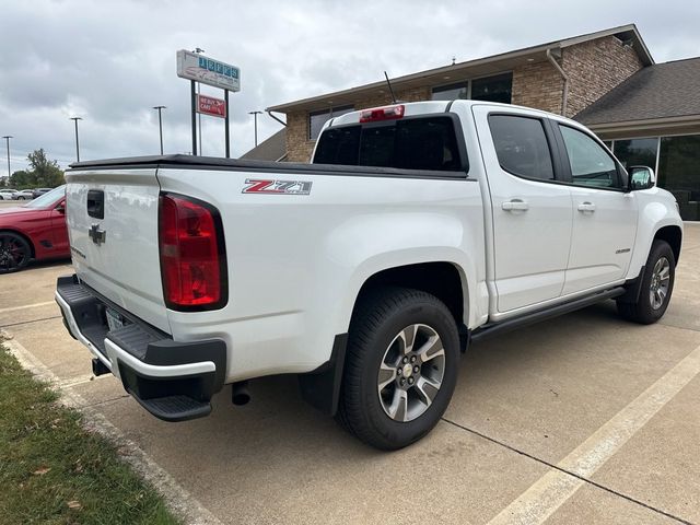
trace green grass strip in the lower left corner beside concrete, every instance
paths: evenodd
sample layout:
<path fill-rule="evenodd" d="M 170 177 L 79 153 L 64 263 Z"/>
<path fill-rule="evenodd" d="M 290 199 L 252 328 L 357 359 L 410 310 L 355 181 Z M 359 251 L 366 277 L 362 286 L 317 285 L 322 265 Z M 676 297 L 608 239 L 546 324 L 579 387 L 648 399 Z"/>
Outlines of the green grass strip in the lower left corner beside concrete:
<path fill-rule="evenodd" d="M 0 342 L 0 524 L 177 524 L 77 410 Z"/>

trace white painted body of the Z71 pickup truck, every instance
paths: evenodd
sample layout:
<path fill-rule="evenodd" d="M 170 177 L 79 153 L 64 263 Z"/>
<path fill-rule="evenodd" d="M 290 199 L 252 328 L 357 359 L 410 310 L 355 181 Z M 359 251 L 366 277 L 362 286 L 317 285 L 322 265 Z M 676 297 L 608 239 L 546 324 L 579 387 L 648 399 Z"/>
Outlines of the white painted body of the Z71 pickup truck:
<path fill-rule="evenodd" d="M 583 132 L 604 148 L 574 121 L 470 101 L 402 106 L 405 119 L 451 116 L 468 160 L 465 171 L 207 159 L 183 163 L 182 158 L 79 164 L 66 175 L 75 282 L 174 341 L 223 341 L 223 381 L 234 383 L 323 369 L 337 336 L 349 330 L 362 288 L 387 270 L 450 265 L 459 278 L 458 324 L 476 335 L 635 282 L 658 232 L 680 240 L 675 199 L 655 186 L 631 191 L 509 173 L 489 118 L 541 122 L 555 173 L 563 171 L 556 151 L 564 149 L 562 135 L 553 135 L 556 126 Z M 337 117 L 324 133 L 357 127 L 362 115 Z M 506 150 L 504 154 L 520 154 L 517 147 Z M 98 221 L 86 212 L 91 190 L 104 192 L 104 219 Z M 228 281 L 222 307 L 166 307 L 159 255 L 163 194 L 187 196 L 218 210 Z M 94 242 L 90 233 L 95 224 L 106 232 L 103 242 Z M 69 305 L 60 294 L 57 300 L 70 331 L 79 336 Z M 116 375 L 119 360 L 133 361 L 113 342 L 106 351 L 83 342 Z M 201 369 L 197 362 L 176 366 L 164 375 Z"/>

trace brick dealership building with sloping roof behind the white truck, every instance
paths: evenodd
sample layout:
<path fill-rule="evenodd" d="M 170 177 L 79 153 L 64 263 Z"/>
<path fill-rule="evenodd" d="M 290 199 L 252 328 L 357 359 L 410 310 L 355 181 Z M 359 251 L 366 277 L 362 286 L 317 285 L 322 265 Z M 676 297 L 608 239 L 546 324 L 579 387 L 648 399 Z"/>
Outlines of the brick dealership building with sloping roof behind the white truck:
<path fill-rule="evenodd" d="M 470 98 L 585 124 L 626 165 L 655 170 L 685 220 L 700 220 L 700 57 L 655 63 L 633 24 L 392 79 L 405 102 Z M 389 104 L 385 81 L 269 107 L 287 127 L 244 155 L 307 162 L 323 125 Z"/>

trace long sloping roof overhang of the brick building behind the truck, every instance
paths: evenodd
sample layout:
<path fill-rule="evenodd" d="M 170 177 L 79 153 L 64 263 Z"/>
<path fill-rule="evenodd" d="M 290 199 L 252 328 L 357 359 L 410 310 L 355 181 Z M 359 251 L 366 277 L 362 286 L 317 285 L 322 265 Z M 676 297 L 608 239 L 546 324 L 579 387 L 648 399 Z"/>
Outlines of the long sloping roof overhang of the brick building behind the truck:
<path fill-rule="evenodd" d="M 502 52 L 490 57 L 468 60 L 466 62 L 443 66 L 441 68 L 429 69 L 418 73 L 406 74 L 392 79 L 392 88 L 394 92 L 406 91 L 413 88 L 424 88 L 434 85 L 445 85 L 453 82 L 464 81 L 465 79 L 474 79 L 487 77 L 489 74 L 511 71 L 517 66 L 526 63 L 542 62 L 547 60 L 547 50 L 555 52 L 555 56 L 561 49 L 575 46 L 584 42 L 603 38 L 606 36 L 617 36 L 622 42 L 629 43 L 640 56 L 644 66 L 654 63 L 646 45 L 642 40 L 639 31 L 634 24 L 621 25 L 596 33 L 590 33 L 563 40 L 549 42 L 538 46 L 526 47 L 514 51 Z M 312 96 L 301 101 L 294 101 L 287 104 L 268 107 L 268 112 L 290 113 L 290 112 L 318 112 L 329 109 L 330 107 L 355 105 L 369 97 L 385 96 L 388 93 L 386 81 L 382 80 L 371 84 L 364 84 L 349 90 L 336 91 L 319 96 Z"/>

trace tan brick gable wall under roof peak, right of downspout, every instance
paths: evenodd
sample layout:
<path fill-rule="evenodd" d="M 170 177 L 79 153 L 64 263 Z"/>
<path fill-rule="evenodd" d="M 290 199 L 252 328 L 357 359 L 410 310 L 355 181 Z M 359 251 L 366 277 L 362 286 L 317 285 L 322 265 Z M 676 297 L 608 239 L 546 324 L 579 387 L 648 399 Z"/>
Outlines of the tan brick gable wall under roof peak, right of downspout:
<path fill-rule="evenodd" d="M 567 116 L 573 117 L 642 68 L 637 51 L 615 36 L 563 49 L 561 67 L 569 75 Z"/>

